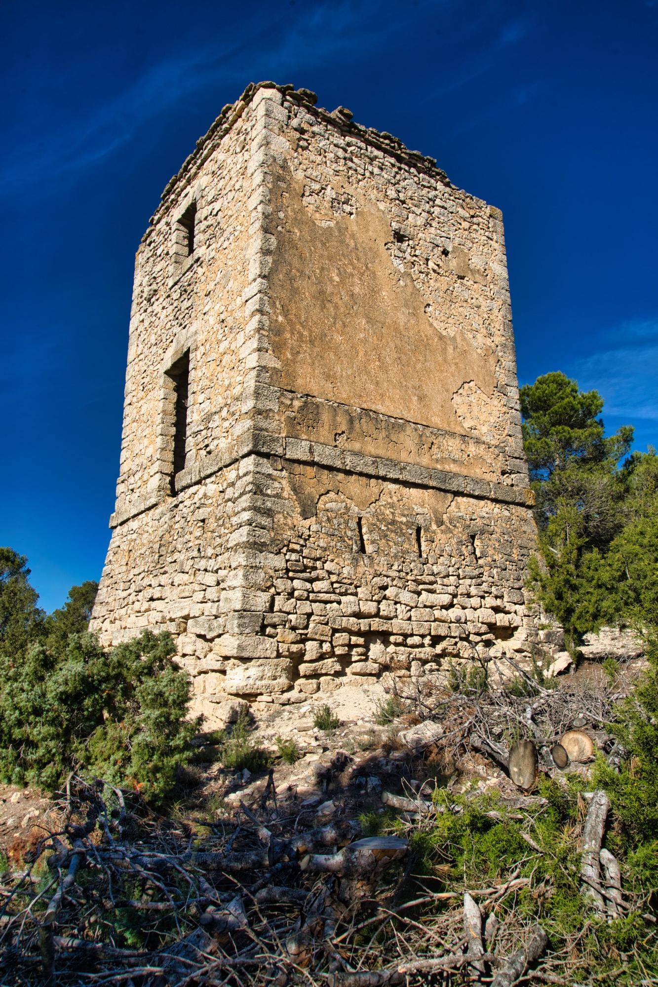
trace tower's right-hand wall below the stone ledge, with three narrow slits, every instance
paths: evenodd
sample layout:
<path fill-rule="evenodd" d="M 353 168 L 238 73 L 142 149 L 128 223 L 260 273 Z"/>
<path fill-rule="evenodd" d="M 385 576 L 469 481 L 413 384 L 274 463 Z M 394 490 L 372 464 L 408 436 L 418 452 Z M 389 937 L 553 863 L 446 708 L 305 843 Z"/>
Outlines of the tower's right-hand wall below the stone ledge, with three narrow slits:
<path fill-rule="evenodd" d="M 525 506 L 276 457 L 253 477 L 279 497 L 283 545 L 263 582 L 275 595 L 261 631 L 277 650 L 227 659 L 199 683 L 208 698 L 301 701 L 341 680 L 433 672 L 536 640 L 523 589 L 535 545 Z"/>

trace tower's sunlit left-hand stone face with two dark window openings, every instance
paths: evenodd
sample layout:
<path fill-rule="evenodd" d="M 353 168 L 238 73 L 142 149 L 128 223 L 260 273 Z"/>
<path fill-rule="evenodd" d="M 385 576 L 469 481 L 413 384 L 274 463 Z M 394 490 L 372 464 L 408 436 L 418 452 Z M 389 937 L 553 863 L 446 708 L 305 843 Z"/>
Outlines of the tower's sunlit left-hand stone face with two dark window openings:
<path fill-rule="evenodd" d="M 240 461 L 251 445 L 244 296 L 258 249 L 250 199 L 260 182 L 251 168 L 258 121 L 245 109 L 231 107 L 195 165 L 189 159 L 184 177 L 170 183 L 137 252 L 114 532 L 91 625 L 106 645 L 143 627 L 166 628 L 182 636 L 182 653 L 203 656 L 209 645 L 195 627 L 216 618 L 221 588 L 240 581 L 231 539 L 240 523 Z M 177 220 L 193 200 L 195 250 L 187 257 Z M 166 371 L 187 349 L 187 457 L 172 496 Z"/>

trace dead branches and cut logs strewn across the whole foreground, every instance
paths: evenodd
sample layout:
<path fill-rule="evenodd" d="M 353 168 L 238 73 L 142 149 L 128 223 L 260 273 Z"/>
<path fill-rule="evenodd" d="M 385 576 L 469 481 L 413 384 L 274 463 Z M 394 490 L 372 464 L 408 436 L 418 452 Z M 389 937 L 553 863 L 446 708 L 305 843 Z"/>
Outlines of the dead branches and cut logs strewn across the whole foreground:
<path fill-rule="evenodd" d="M 370 805 L 395 835 L 364 836 L 354 817 L 359 799 L 340 797 L 353 770 L 340 751 L 331 775 L 334 814 L 323 825 L 314 825 L 312 804 L 278 798 L 273 772 L 231 815 L 186 821 L 155 815 L 134 794 L 102 782 L 71 779 L 28 866 L 0 874 L 0 983 L 580 983 L 572 974 L 585 969 L 577 957 L 590 921 L 551 949 L 520 902 L 554 891 L 550 878 L 533 876 L 550 855 L 536 842 L 536 822 L 547 810 L 537 779 L 559 780 L 556 750 L 568 732 L 583 733 L 609 759 L 622 756 L 606 732 L 615 698 L 612 690 L 568 683 L 559 690 L 535 684 L 529 695 L 407 691 L 414 712 L 405 725 L 418 731 L 414 744 L 367 759 L 369 773 L 380 761 L 397 772 L 397 791 L 379 785 L 372 796 L 378 810 Z M 409 728 L 405 733 L 410 741 Z M 518 863 L 481 886 L 472 875 L 470 883 L 457 879 L 450 864 L 421 866 L 418 840 L 435 838 L 442 813 L 454 819 L 470 804 L 468 790 L 452 790 L 452 783 L 433 796 L 431 771 L 419 781 L 437 755 L 445 762 L 486 759 L 499 775 L 498 801 L 478 811 L 492 825 L 514 826 L 523 841 Z M 394 773 L 388 777 L 395 783 Z M 648 897 L 633 899 L 622 889 L 617 860 L 603 847 L 608 797 L 594 791 L 579 800 L 576 896 L 586 898 L 595 925 L 637 913 L 653 923 L 655 938 Z M 594 982 L 588 977 L 583 982 Z"/>

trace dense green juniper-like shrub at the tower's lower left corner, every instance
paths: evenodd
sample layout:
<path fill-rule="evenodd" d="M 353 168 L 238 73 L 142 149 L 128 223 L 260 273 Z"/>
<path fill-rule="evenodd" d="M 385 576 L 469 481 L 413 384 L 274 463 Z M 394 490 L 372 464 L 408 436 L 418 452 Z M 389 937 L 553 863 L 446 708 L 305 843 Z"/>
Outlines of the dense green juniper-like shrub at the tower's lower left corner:
<path fill-rule="evenodd" d="M 199 726 L 173 651 L 145 631 L 109 653 L 85 633 L 0 654 L 0 778 L 54 791 L 75 771 L 161 801 Z"/>

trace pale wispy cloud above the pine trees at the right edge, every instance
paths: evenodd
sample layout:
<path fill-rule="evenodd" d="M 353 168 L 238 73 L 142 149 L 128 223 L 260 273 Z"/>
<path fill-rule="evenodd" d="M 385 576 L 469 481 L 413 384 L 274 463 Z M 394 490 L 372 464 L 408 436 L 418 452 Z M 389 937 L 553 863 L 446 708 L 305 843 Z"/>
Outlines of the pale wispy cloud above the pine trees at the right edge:
<path fill-rule="evenodd" d="M 601 336 L 602 348 L 575 361 L 569 376 L 606 400 L 604 414 L 658 421 L 658 318 L 635 319 Z"/>

